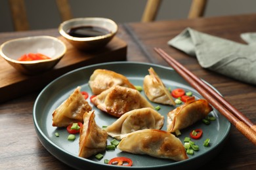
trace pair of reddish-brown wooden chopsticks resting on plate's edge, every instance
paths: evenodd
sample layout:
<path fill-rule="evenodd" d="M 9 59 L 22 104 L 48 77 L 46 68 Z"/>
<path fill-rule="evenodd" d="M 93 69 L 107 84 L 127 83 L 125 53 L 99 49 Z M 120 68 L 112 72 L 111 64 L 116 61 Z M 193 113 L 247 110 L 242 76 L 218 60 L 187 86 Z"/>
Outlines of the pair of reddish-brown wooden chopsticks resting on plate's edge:
<path fill-rule="evenodd" d="M 179 75 L 181 75 L 195 90 L 197 90 L 215 109 L 219 110 L 226 119 L 233 124 L 249 141 L 256 145 L 256 126 L 226 101 L 219 93 L 215 92 L 213 88 L 205 84 L 198 76 L 194 75 L 186 69 L 181 63 L 169 56 L 161 48 L 154 48 L 154 50 L 165 59 Z"/>

